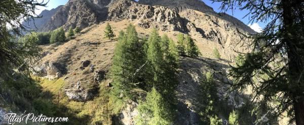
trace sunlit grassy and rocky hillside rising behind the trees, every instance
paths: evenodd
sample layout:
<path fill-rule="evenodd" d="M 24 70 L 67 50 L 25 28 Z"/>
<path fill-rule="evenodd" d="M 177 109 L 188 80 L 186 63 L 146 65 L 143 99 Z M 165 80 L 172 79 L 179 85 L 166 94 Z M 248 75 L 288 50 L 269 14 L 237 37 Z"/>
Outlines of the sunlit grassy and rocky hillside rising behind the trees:
<path fill-rule="evenodd" d="M 113 39 L 104 38 L 107 23 L 116 35 Z M 148 38 L 154 29 L 160 36 L 166 34 L 175 42 L 178 34 L 188 34 L 201 52 L 199 57 L 179 57 L 178 83 L 174 92 L 177 118 L 174 124 L 202 124 L 204 109 L 209 103 L 214 104 L 214 112 L 224 124 L 232 110 L 243 109 L 250 103 L 246 95 L 227 90 L 228 84 L 232 83 L 232 79 L 227 77 L 229 65 L 234 65 L 238 52 L 246 53 L 252 49 L 252 39 L 244 40 L 240 32 L 246 35 L 255 32 L 241 21 L 217 14 L 196 0 L 142 0 L 138 3 L 128 0 L 69 0 L 40 30 L 51 31 L 58 27 L 65 30 L 80 27 L 82 30 L 67 42 L 41 45 L 43 56 L 34 64 L 35 72 L 32 74 L 42 91 L 37 97 L 49 100 L 56 108 L 50 114 L 69 116 L 69 124 L 135 124 L 139 99 L 148 91 L 132 90 L 138 99 L 124 102 L 120 110 L 116 109 L 120 105 L 113 103 L 115 100 L 110 94 L 113 80 L 109 72 L 119 41 L 118 34 L 129 24 L 135 25 L 142 39 Z M 214 56 L 215 48 L 221 58 Z M 210 94 L 204 90 L 208 73 L 213 77 L 215 90 L 212 92 L 218 97 L 216 100 L 205 96 Z M 0 108 L 0 120 L 2 110 Z M 253 124 L 255 117 L 246 111 L 243 115 L 249 119 L 247 123 Z"/>

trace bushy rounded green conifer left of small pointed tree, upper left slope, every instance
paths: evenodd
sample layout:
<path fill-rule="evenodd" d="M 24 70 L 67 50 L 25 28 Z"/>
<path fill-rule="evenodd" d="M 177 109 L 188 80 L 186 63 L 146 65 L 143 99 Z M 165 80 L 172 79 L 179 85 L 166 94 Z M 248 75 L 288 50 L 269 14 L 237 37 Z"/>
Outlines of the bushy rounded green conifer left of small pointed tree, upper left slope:
<path fill-rule="evenodd" d="M 64 42 L 66 39 L 65 32 L 62 27 L 59 29 L 56 29 L 52 32 L 50 37 L 50 43 L 56 43 L 56 42 Z"/>

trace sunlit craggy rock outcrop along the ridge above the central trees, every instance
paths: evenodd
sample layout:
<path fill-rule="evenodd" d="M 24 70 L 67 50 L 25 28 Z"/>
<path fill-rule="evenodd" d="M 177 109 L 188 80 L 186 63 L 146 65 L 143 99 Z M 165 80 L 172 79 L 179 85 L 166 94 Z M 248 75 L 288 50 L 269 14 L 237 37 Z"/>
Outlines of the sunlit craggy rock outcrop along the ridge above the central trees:
<path fill-rule="evenodd" d="M 162 31 L 184 31 L 183 20 L 176 11 L 162 6 L 140 5 L 128 0 L 115 2 L 109 8 L 108 20 L 136 21 L 143 28 L 158 28 Z"/>

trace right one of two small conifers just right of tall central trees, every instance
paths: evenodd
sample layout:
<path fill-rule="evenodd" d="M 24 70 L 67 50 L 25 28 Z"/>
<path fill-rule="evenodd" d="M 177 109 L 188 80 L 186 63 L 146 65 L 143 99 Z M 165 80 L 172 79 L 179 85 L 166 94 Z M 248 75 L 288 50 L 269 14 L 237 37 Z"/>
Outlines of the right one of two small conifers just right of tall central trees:
<path fill-rule="evenodd" d="M 184 41 L 187 44 L 186 50 L 187 50 L 188 56 L 191 56 L 191 57 L 199 56 L 200 51 L 198 49 L 198 46 L 195 44 L 195 42 L 193 41 L 193 39 L 189 35 L 186 35 Z"/>

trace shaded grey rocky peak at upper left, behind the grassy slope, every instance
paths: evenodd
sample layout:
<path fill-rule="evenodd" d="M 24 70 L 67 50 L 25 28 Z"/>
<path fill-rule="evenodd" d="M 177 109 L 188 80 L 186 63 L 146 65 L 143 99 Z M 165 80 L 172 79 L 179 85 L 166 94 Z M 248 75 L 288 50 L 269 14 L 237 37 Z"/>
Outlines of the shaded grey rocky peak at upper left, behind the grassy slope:
<path fill-rule="evenodd" d="M 60 8 L 52 19 L 47 22 L 42 31 L 54 30 L 63 26 L 65 30 L 71 27 L 81 29 L 106 20 L 108 6 L 114 0 L 70 0 Z"/>

